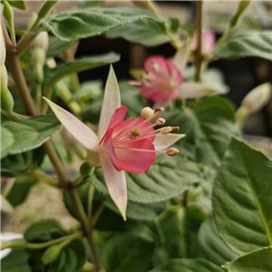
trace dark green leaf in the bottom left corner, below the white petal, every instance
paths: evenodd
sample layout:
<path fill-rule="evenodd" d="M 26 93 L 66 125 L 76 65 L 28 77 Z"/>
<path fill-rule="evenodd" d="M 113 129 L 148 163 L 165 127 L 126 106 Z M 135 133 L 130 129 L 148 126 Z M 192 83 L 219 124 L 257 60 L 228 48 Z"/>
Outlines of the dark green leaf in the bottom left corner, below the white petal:
<path fill-rule="evenodd" d="M 27 260 L 28 254 L 24 249 L 14 249 L 7 257 L 0 260 L 1 272 L 31 272 Z"/>

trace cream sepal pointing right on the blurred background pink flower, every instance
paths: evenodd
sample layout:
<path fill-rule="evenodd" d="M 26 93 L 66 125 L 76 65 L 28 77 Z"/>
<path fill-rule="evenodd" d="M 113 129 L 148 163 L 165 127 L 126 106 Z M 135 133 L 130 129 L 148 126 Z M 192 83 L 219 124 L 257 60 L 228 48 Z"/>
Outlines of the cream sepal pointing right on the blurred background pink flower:
<path fill-rule="evenodd" d="M 198 99 L 211 92 L 216 91 L 201 83 L 182 83 L 180 85 L 180 97 L 184 99 Z"/>

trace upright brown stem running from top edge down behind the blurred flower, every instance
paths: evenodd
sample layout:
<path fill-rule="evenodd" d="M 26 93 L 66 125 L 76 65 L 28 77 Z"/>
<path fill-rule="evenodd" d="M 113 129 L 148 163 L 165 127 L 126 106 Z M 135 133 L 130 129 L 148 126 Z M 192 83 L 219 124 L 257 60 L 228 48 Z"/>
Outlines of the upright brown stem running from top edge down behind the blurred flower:
<path fill-rule="evenodd" d="M 197 7 L 197 31 L 198 31 L 198 46 L 196 49 L 196 73 L 195 73 L 195 81 L 200 81 L 201 76 L 201 68 L 203 63 L 203 56 L 202 56 L 202 16 L 203 16 L 203 0 L 198 0 L 198 7 Z"/>

